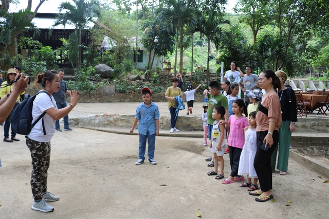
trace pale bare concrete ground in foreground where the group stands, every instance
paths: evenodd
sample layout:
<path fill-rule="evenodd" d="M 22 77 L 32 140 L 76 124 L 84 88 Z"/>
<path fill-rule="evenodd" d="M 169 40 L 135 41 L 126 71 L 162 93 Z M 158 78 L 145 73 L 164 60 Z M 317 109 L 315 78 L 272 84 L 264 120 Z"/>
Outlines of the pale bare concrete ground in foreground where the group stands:
<path fill-rule="evenodd" d="M 60 200 L 49 202 L 53 212 L 33 211 L 30 153 L 18 137 L 0 141 L 1 218 L 197 218 L 198 209 L 203 218 L 329 217 L 326 178 L 294 160 L 286 176 L 273 173 L 276 202 L 258 203 L 239 182 L 223 185 L 207 176 L 210 151 L 202 139 L 157 137 L 158 164 L 146 158 L 135 166 L 138 136 L 76 127 L 51 140 L 48 191 Z M 224 160 L 228 176 L 229 156 Z"/>

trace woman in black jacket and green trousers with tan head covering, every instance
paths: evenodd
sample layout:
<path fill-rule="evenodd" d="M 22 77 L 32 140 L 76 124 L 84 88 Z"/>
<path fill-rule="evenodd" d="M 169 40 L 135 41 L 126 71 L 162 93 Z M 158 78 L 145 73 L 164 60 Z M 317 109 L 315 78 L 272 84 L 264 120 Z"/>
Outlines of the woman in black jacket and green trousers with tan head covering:
<path fill-rule="evenodd" d="M 277 169 L 280 175 L 286 175 L 288 170 L 289 161 L 289 145 L 291 140 L 291 132 L 295 132 L 295 122 L 297 122 L 296 112 L 296 96 L 295 92 L 291 88 L 283 86 L 287 80 L 287 75 L 284 71 L 278 70 L 275 72 L 276 76 L 280 79 L 282 90 L 277 90 L 281 103 L 281 115 L 282 124 L 280 126 L 280 138 L 279 138 L 279 154 Z M 278 148 L 272 154 L 271 166 L 272 170 L 276 168 Z"/>

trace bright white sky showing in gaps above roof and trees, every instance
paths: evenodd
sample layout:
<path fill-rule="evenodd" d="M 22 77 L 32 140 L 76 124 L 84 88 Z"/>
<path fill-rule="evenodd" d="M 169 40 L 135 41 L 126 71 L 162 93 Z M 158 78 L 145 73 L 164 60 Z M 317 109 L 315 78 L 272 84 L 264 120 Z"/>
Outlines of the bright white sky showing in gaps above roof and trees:
<path fill-rule="evenodd" d="M 106 1 L 106 0 L 103 0 Z M 237 0 L 228 0 L 227 5 L 227 12 L 232 12 L 232 8 L 235 6 Z M 20 0 L 20 4 L 17 6 L 11 4 L 10 5 L 10 12 L 16 12 L 20 9 L 24 9 L 27 7 L 27 0 Z M 39 0 L 32 0 L 32 11 L 38 6 Z M 74 3 L 73 0 L 48 0 L 44 2 L 41 7 L 39 8 L 38 12 L 41 13 L 58 13 L 58 7 L 62 2 L 71 2 Z"/>

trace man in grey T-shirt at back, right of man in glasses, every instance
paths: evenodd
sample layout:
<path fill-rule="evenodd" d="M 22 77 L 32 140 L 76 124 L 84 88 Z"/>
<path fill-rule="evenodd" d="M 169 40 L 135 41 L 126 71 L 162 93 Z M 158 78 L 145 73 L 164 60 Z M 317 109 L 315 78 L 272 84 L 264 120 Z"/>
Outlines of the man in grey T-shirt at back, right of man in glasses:
<path fill-rule="evenodd" d="M 245 103 L 248 105 L 250 103 L 249 97 L 246 95 L 246 91 L 256 89 L 256 85 L 258 84 L 258 76 L 251 74 L 252 67 L 250 65 L 246 66 L 246 74 L 244 77 L 241 77 L 239 81 L 239 86 L 241 87 L 241 90 L 244 92 L 245 96 Z M 243 83 L 243 86 L 242 86 Z"/>

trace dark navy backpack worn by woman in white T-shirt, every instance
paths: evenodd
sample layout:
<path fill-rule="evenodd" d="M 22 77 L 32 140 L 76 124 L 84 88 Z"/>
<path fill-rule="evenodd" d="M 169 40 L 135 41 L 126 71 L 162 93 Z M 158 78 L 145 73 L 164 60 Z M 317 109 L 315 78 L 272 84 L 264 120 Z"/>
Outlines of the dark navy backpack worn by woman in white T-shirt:
<path fill-rule="evenodd" d="M 41 90 L 41 92 L 39 92 L 38 94 L 40 93 L 46 93 L 51 99 L 50 95 L 47 92 Z M 39 118 L 36 119 L 35 122 L 33 122 L 32 124 L 32 120 L 33 120 L 32 107 L 36 95 L 34 95 L 33 97 L 25 98 L 23 102 L 17 105 L 17 107 L 14 109 L 14 112 L 12 113 L 12 117 L 11 117 L 11 128 L 15 133 L 20 135 L 28 135 L 31 132 L 33 126 L 36 123 L 38 123 L 39 120 L 43 118 L 44 115 L 46 114 L 46 112 L 43 112 L 43 114 L 41 114 Z M 42 119 L 42 127 L 43 127 L 43 134 L 46 135 L 43 119 Z"/>

